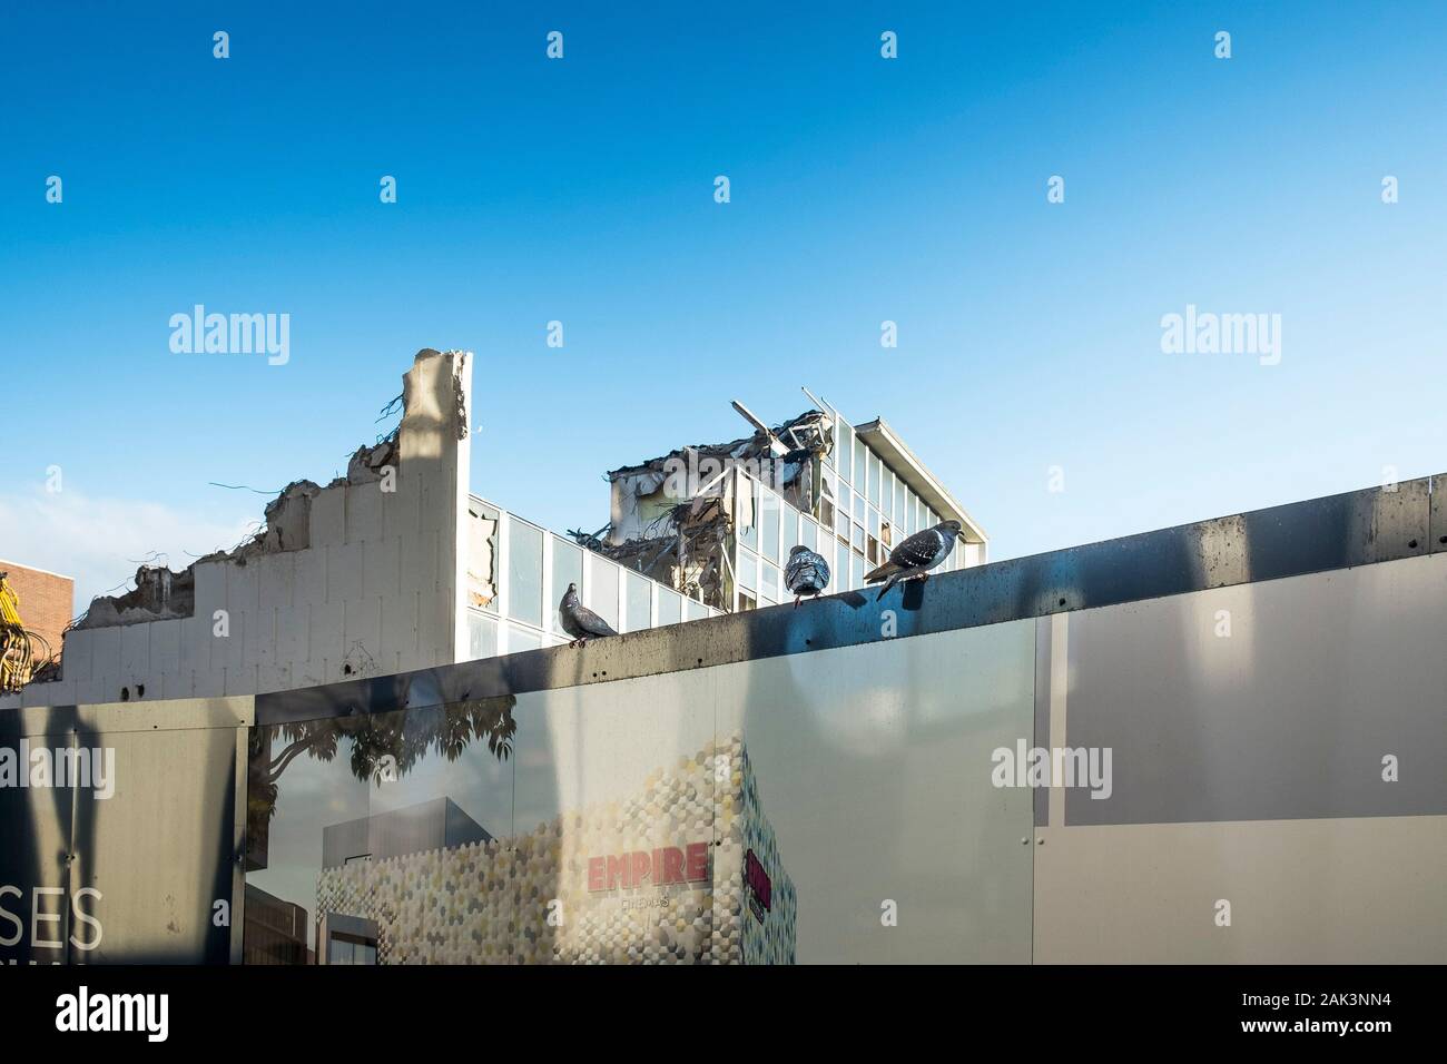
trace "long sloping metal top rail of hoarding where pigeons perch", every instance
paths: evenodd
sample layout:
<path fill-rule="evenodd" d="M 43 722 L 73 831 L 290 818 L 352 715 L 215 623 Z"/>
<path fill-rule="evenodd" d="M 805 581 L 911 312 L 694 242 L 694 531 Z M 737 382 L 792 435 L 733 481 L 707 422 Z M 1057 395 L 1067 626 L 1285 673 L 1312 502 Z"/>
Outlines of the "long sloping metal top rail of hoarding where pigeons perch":
<path fill-rule="evenodd" d="M 382 712 L 878 643 L 1247 582 L 1414 557 L 1427 552 L 1428 481 L 1294 502 L 932 576 L 891 591 L 651 628 L 505 657 L 259 695 L 260 722 Z"/>

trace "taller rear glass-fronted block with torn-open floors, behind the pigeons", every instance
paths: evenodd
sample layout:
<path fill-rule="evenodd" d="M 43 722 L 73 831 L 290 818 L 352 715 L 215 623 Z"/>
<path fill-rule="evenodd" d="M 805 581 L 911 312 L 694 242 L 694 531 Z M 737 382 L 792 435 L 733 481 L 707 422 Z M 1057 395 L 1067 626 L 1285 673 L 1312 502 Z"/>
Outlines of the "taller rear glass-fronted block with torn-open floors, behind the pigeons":
<path fill-rule="evenodd" d="M 862 588 L 903 537 L 945 520 L 964 527 L 946 570 L 987 560 L 984 530 L 883 418 L 851 426 L 815 401 L 768 427 L 734 407 L 751 436 L 611 470 L 608 524 L 570 534 L 726 612 L 787 599 L 781 567 L 800 543 L 828 559 L 826 594 Z"/>

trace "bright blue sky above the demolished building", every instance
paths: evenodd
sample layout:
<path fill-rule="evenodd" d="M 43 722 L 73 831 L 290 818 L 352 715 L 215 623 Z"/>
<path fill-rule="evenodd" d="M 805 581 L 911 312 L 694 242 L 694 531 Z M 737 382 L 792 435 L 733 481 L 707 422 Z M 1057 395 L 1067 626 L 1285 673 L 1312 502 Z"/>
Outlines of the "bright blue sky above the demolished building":
<path fill-rule="evenodd" d="M 232 546 L 265 498 L 208 482 L 339 473 L 425 346 L 478 355 L 473 489 L 557 530 L 799 385 L 996 559 L 1447 469 L 1447 9 L 777 7 L 7 7 L 0 557 L 80 609 Z M 172 353 L 197 303 L 289 362 Z M 1162 353 L 1188 304 L 1281 363 Z"/>

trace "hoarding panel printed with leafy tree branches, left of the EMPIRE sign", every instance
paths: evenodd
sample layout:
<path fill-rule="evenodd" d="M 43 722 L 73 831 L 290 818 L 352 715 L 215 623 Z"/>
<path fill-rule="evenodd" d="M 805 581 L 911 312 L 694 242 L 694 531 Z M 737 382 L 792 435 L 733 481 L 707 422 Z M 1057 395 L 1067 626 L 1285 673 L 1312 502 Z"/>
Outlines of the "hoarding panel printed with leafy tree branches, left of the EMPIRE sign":
<path fill-rule="evenodd" d="M 255 730 L 247 963 L 511 961 L 511 706 Z"/>

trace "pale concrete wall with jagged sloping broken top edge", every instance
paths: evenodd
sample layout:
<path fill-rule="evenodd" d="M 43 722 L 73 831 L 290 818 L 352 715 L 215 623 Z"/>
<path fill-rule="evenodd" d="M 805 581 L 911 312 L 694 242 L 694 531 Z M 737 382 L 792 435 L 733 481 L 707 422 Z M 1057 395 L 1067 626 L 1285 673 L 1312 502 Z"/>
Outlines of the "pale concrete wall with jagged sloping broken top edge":
<path fill-rule="evenodd" d="M 288 485 L 237 549 L 96 599 L 61 677 L 23 704 L 250 695 L 460 660 L 470 362 L 418 352 L 396 433 L 324 488 Z"/>

